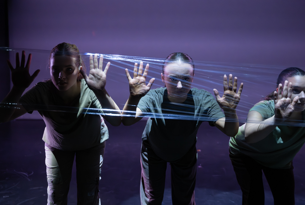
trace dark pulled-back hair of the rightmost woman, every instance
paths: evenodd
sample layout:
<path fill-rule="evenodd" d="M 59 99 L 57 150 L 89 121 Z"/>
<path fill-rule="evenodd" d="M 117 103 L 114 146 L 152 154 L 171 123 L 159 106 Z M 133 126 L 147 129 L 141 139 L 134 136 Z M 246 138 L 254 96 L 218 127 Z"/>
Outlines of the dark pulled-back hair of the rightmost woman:
<path fill-rule="evenodd" d="M 282 84 L 284 86 L 285 80 L 294 76 L 305 76 L 305 71 L 295 67 L 286 68 L 278 75 L 278 80 L 276 81 L 276 87 L 278 88 L 279 84 Z M 273 93 L 274 91 L 269 95 L 267 95 L 266 97 L 264 97 L 264 100 L 267 101 L 273 100 L 274 99 Z"/>

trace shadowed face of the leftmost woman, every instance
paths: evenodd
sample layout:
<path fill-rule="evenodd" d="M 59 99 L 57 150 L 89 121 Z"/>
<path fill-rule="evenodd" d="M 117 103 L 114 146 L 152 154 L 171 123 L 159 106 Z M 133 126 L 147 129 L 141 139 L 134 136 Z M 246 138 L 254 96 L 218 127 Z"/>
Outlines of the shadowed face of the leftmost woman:
<path fill-rule="evenodd" d="M 77 76 L 80 72 L 73 57 L 59 55 L 50 59 L 50 74 L 55 87 L 60 91 L 66 91 L 77 86 Z"/>

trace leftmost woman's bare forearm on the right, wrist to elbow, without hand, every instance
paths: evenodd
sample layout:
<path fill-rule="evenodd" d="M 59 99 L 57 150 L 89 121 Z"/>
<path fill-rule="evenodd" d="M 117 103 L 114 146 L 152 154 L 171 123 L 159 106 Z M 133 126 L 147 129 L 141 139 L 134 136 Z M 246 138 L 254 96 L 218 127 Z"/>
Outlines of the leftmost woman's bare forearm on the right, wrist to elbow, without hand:
<path fill-rule="evenodd" d="M 105 113 L 104 118 L 113 126 L 119 126 L 122 121 L 121 111 L 106 90 L 93 91 Z M 109 110 L 107 110 L 109 109 Z M 107 115 L 108 114 L 108 115 Z M 110 115 L 109 115 L 110 114 Z"/>

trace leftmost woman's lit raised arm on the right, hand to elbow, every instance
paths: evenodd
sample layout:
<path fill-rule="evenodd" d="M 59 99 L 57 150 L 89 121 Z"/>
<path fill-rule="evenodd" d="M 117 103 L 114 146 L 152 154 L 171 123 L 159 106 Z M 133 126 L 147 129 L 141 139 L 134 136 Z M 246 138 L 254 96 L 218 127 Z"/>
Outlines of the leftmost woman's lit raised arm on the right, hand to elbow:
<path fill-rule="evenodd" d="M 105 115 L 103 116 L 111 125 L 119 126 L 121 124 L 121 111 L 117 104 L 113 101 L 110 95 L 107 93 L 105 89 L 106 85 L 106 74 L 110 66 L 110 62 L 107 63 L 105 70 L 103 71 L 103 56 L 99 58 L 99 63 L 97 60 L 97 54 L 90 55 L 90 72 L 89 76 L 87 76 L 84 70 L 80 70 L 81 74 L 84 76 L 84 79 L 88 85 L 88 87 L 94 92 L 95 96 L 99 100 L 103 112 Z M 110 110 L 106 110 L 110 109 Z M 111 115 L 107 115 L 111 114 Z"/>

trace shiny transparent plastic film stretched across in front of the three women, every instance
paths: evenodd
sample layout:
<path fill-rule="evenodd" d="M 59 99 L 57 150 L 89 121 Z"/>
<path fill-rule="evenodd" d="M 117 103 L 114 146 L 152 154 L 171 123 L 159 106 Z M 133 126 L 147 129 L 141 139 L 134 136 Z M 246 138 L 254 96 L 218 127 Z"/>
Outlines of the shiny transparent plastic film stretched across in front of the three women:
<path fill-rule="evenodd" d="M 21 56 L 21 52 L 25 51 L 26 59 L 28 55 L 32 54 L 32 61 L 30 65 L 30 75 L 37 69 L 40 69 L 38 76 L 34 79 L 33 83 L 25 90 L 29 90 L 36 83 L 42 81 L 48 81 L 50 79 L 50 68 L 49 68 L 49 57 L 50 51 L 47 50 L 35 50 L 35 49 L 21 49 L 21 48 L 6 48 L 0 47 L 2 51 L 9 52 L 10 62 L 15 68 L 15 58 L 16 53 L 18 52 Z M 64 53 L 63 53 L 64 54 Z M 89 52 L 80 52 L 79 53 L 84 61 L 83 70 L 86 71 L 87 75 L 90 72 L 90 55 L 95 55 L 95 53 Z M 262 121 L 260 118 L 251 118 L 251 120 L 247 121 L 247 116 L 251 108 L 257 106 L 257 103 L 264 100 L 266 104 L 269 104 L 269 109 L 275 109 L 273 92 L 276 91 L 277 79 L 282 70 L 286 69 L 286 67 L 281 66 L 272 66 L 272 65 L 253 65 L 253 64 L 241 64 L 241 63 L 225 63 L 225 62 L 206 62 L 206 61 L 198 61 L 200 59 L 193 59 L 194 66 L 194 76 L 187 76 L 190 78 L 183 78 L 183 62 L 178 62 L 177 60 L 173 60 L 170 62 L 169 59 L 165 58 L 149 58 L 149 57 L 136 57 L 136 56 L 125 56 L 125 55 L 109 55 L 109 54 L 98 54 L 98 58 L 103 57 L 102 69 L 107 66 L 107 63 L 110 62 L 110 66 L 106 75 L 106 86 L 105 89 L 107 93 L 114 102 L 116 102 L 117 106 L 120 108 L 120 112 L 123 113 L 121 116 L 123 117 L 136 117 L 137 111 L 123 110 L 124 105 L 130 97 L 130 87 L 128 83 L 128 78 L 126 77 L 126 72 L 128 71 L 129 75 L 132 77 L 143 76 L 146 78 L 145 85 L 149 83 L 152 84 L 150 87 L 149 93 L 154 89 L 162 90 L 165 87 L 165 74 L 163 69 L 164 62 L 167 62 L 167 65 L 171 65 L 171 74 L 167 76 L 170 79 L 170 86 L 177 87 L 177 89 L 181 90 L 183 87 L 187 86 L 191 89 L 189 94 L 192 94 L 194 90 L 198 89 L 205 90 L 205 95 L 208 95 L 212 98 L 206 98 L 210 102 L 210 104 L 216 103 L 217 97 L 215 97 L 216 93 L 219 93 L 219 97 L 226 100 L 228 104 L 235 104 L 231 108 L 222 107 L 221 112 L 225 114 L 227 122 L 240 122 L 240 123 L 271 123 L 271 121 Z M 165 57 L 165 56 L 164 56 Z M 137 63 L 137 65 L 135 65 Z M 143 68 L 139 68 L 142 66 Z M 173 68 L 173 65 L 174 68 Z M 181 67 L 180 67 L 181 66 Z M 5 66 L 2 68 L 6 69 Z M 145 70 L 145 68 L 147 68 Z M 7 69 L 8 66 L 7 66 Z M 127 69 L 127 71 L 125 71 Z M 304 68 L 300 68 L 304 69 Z M 141 70 L 141 71 L 140 71 Z M 161 74 L 162 73 L 162 74 Z M 181 77 L 182 76 L 182 77 Z M 236 79 L 237 77 L 237 79 Z M 154 79 L 153 83 L 150 82 L 151 79 Z M 189 80 L 192 81 L 189 81 Z M 288 80 L 288 79 L 284 79 Z M 231 81 L 231 82 L 230 82 Z M 240 87 L 241 83 L 243 84 Z M 180 86 L 180 87 L 179 87 Z M 13 83 L 11 83 L 11 88 L 13 87 Z M 175 88 L 176 89 L 176 88 Z M 216 92 L 215 90 L 216 89 Z M 282 109 L 275 110 L 276 115 L 280 115 L 280 110 L 287 110 L 291 106 L 294 108 L 301 109 L 305 107 L 302 90 L 295 90 L 293 85 L 285 84 L 283 82 L 282 86 L 278 87 L 279 90 L 283 91 L 282 95 L 277 94 L 275 98 L 275 104 L 278 101 L 281 101 L 282 98 L 286 98 L 287 101 L 282 104 L 277 104 L 276 107 L 280 107 Z M 238 100 L 236 100 L 236 96 L 234 93 L 232 95 L 223 96 L 226 90 L 231 90 L 236 95 L 239 95 Z M 242 90 L 242 91 L 241 91 Z M 188 89 L 189 91 L 189 89 Z M 199 92 L 198 91 L 198 92 Z M 24 93 L 25 93 L 24 92 Z M 164 92 L 164 89 L 163 89 Z M 168 92 L 170 92 L 168 88 Z M 175 90 L 176 92 L 176 90 Z M 201 91 L 200 91 L 201 92 Z M 24 94 L 23 93 L 23 94 Z M 149 94 L 148 93 L 148 94 Z M 182 91 L 178 91 L 174 95 L 180 95 L 183 93 Z M 214 94 L 215 93 L 215 94 Z M 285 95 L 285 93 L 288 93 Z M 167 92 L 166 92 L 167 94 Z M 147 95 L 147 94 L 146 94 Z M 170 93 L 168 93 L 170 96 Z M 206 97 L 204 95 L 204 97 Z M 140 97 L 144 97 L 145 95 L 140 95 Z M 293 99 L 295 97 L 300 99 L 299 101 L 294 102 Z M 137 96 L 139 97 L 139 96 Z M 174 96 L 175 97 L 175 96 Z M 192 98 L 192 96 L 190 96 Z M 195 98 L 195 97 L 194 97 Z M 288 99 L 289 98 L 289 99 Z M 162 101 L 162 99 L 161 99 Z M 198 101 L 197 103 L 184 103 L 184 102 L 170 102 L 170 106 L 162 106 L 160 108 L 150 108 L 145 107 L 142 108 L 142 114 L 140 117 L 146 118 L 161 118 L 161 119 L 173 119 L 173 120 L 194 120 L 194 121 L 208 121 L 215 122 L 217 120 L 223 120 L 219 118 L 213 118 L 209 113 L 219 112 L 219 106 L 216 107 L 204 107 L 203 102 L 199 102 L 200 99 L 193 99 L 193 101 Z M 283 100 L 282 100 L 283 101 Z M 141 103 L 141 102 L 140 102 Z M 153 104 L 154 102 L 152 102 Z M 260 102 L 264 103 L 264 102 Z M 20 108 L 20 105 L 23 107 L 31 108 L 31 110 L 37 111 L 56 111 L 56 112 L 68 112 L 68 113 L 84 113 L 84 114 L 97 114 L 97 115 L 113 115 L 117 116 L 117 110 L 113 109 L 96 109 L 96 108 L 79 108 L 77 106 L 59 106 L 54 104 L 20 104 L 20 103 L 5 103 L 2 102 L 0 104 L 0 108 Z M 128 105 L 128 104 L 127 104 Z M 206 103 L 205 105 L 209 105 Z M 126 106 L 126 105 L 125 105 Z M 130 107 L 137 106 L 133 104 L 129 104 Z M 273 107 L 272 107 L 273 106 Z M 289 107 L 290 106 L 290 107 Z M 174 108 L 174 109 L 171 109 Z M 293 108 L 293 109 L 294 109 Z M 291 108 L 290 108 L 291 109 Z M 147 110 L 151 110 L 147 112 Z M 198 111 L 204 110 L 204 111 Z M 274 110 L 273 110 L 274 111 Z M 237 118 L 230 118 L 230 113 L 236 112 Z M 303 116 L 303 115 L 302 115 Z M 264 116 L 263 116 L 264 117 Z M 254 120 L 253 120 L 254 119 Z M 305 123 L 302 119 L 299 120 L 279 120 L 276 122 L 278 125 L 288 125 L 288 126 L 304 126 Z M 274 123 L 274 122 L 272 122 Z"/>

